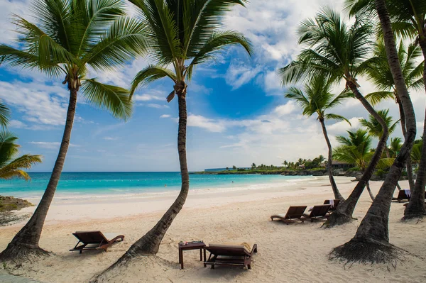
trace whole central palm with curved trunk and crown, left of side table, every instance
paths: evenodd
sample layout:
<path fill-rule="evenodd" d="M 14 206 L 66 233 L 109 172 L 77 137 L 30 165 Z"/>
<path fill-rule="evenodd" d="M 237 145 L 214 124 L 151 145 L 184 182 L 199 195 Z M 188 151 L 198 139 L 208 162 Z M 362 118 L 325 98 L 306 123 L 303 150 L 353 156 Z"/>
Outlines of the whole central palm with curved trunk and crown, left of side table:
<path fill-rule="evenodd" d="M 244 0 L 130 0 L 142 16 L 148 36 L 148 51 L 155 65 L 148 65 L 136 74 L 131 94 L 138 87 L 168 77 L 173 91 L 170 102 L 178 99 L 178 153 L 182 186 L 175 202 L 155 226 L 133 243 L 116 264 L 137 255 L 155 255 L 173 219 L 185 204 L 190 189 L 186 157 L 187 82 L 197 65 L 212 60 L 226 46 L 241 45 L 251 54 L 251 45 L 244 35 L 221 30 L 222 16 L 232 6 L 244 6 Z M 236 168 L 235 166 L 233 167 Z M 114 265 L 116 265 L 114 264 Z"/>

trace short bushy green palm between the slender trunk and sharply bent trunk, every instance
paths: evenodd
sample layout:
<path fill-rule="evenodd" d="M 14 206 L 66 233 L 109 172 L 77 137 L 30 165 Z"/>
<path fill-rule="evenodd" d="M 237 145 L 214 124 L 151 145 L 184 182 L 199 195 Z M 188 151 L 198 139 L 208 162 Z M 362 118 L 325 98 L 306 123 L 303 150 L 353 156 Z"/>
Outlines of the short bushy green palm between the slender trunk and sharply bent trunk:
<path fill-rule="evenodd" d="M 373 153 L 371 152 L 371 135 L 368 135 L 367 131 L 362 129 L 346 132 L 349 135 L 348 138 L 344 137 L 343 135 L 338 135 L 336 137 L 337 141 L 339 141 L 339 143 L 342 145 L 334 150 L 332 156 L 335 160 L 355 165 L 364 174 L 368 162 L 373 156 Z M 366 184 L 366 188 L 371 199 L 374 200 L 374 196 L 371 192 L 370 184 L 368 182 Z"/>

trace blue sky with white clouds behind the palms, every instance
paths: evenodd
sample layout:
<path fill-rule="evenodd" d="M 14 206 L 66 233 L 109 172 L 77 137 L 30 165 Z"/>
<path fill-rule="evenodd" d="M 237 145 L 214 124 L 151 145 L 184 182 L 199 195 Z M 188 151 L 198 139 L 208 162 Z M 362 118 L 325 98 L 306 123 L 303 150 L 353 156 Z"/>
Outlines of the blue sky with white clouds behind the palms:
<path fill-rule="evenodd" d="M 340 10 L 342 1 L 251 0 L 225 18 L 226 28 L 243 32 L 253 43 L 249 57 L 239 48 L 226 50 L 218 60 L 195 70 L 189 84 L 187 109 L 187 158 L 189 169 L 280 165 L 283 160 L 327 155 L 320 124 L 315 117 L 301 116 L 300 109 L 284 98 L 276 70 L 299 52 L 295 29 L 322 5 Z M 28 17 L 29 0 L 0 0 L 0 43 L 13 44 L 16 33 L 10 23 L 16 13 Z M 29 17 L 29 19 L 32 19 Z M 138 58 L 120 72 L 98 73 L 103 82 L 129 87 L 132 77 L 148 62 Z M 359 80 L 364 94 L 374 91 Z M 133 117 L 116 121 L 80 99 L 64 171 L 178 171 L 178 105 L 165 97 L 173 84 L 161 80 L 140 89 L 135 96 Z M 340 89 L 341 90 L 341 89 Z M 336 87 L 339 91 L 339 87 Z M 35 71 L 0 67 L 0 98 L 13 111 L 11 131 L 19 136 L 22 153 L 43 155 L 34 171 L 52 170 L 62 137 L 67 108 L 67 89 Z M 417 131 L 422 131 L 425 94 L 412 94 Z M 377 106 L 391 109 L 393 101 Z M 354 128 L 368 114 L 361 104 L 346 101 L 334 111 L 349 118 Z M 328 122 L 332 142 L 350 127 Z M 393 136 L 400 136 L 398 128 Z"/>

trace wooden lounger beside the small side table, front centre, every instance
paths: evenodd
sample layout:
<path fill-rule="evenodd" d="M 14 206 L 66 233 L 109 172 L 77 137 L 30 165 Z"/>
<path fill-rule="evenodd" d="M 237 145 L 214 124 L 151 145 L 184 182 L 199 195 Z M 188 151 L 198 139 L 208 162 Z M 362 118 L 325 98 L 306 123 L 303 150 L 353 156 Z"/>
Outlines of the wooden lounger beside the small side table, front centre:
<path fill-rule="evenodd" d="M 251 250 L 249 250 L 249 248 Z M 257 253 L 257 245 L 242 243 L 241 245 L 219 245 L 209 244 L 204 247 L 210 252 L 209 258 L 204 262 L 204 267 L 215 265 L 242 266 L 251 270 L 251 260 L 254 253 Z"/>

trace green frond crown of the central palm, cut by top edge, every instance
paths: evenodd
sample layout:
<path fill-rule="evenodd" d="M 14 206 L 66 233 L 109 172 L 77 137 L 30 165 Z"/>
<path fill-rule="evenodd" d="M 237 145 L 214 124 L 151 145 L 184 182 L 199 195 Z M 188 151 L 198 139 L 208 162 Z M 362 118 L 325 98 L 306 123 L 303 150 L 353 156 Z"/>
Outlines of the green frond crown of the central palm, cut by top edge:
<path fill-rule="evenodd" d="M 245 0 L 130 1 L 141 11 L 149 55 L 156 62 L 136 74 L 131 94 L 138 87 L 169 77 L 175 83 L 167 99 L 170 102 L 176 91 L 186 94 L 185 80 L 191 79 L 195 66 L 212 60 L 224 47 L 241 45 L 251 54 L 244 35 L 220 30 L 224 13 L 236 4 L 244 6 Z"/>

